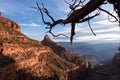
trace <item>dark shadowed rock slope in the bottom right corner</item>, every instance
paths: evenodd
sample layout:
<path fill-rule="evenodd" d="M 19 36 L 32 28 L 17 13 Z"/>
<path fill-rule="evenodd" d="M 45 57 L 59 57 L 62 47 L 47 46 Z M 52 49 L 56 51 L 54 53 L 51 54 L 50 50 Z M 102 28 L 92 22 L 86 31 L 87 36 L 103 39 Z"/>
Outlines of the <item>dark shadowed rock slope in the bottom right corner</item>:
<path fill-rule="evenodd" d="M 115 53 L 111 62 L 97 67 L 91 73 L 92 80 L 120 80 L 120 53 Z"/>

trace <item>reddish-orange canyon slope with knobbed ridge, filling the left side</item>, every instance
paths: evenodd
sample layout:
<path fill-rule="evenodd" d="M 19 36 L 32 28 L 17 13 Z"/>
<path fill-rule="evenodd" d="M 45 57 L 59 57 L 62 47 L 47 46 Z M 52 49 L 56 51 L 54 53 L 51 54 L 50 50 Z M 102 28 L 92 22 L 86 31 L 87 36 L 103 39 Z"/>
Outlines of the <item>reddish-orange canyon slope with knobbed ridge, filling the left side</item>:
<path fill-rule="evenodd" d="M 17 23 L 0 16 L 0 80 L 79 80 L 87 67 L 86 58 L 49 36 L 41 42 L 32 40 Z"/>

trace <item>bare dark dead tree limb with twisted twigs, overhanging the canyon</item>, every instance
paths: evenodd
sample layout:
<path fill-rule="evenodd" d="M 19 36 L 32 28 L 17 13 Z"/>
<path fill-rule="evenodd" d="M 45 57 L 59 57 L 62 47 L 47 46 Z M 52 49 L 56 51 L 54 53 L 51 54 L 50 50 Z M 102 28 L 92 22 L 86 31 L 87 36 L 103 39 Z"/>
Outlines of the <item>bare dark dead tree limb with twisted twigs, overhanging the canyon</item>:
<path fill-rule="evenodd" d="M 83 5 L 83 2 L 85 2 L 86 0 L 72 0 L 73 4 L 68 3 L 66 0 L 64 0 L 68 5 L 69 8 L 71 9 L 71 13 L 69 14 L 69 16 L 66 19 L 58 19 L 55 20 L 50 13 L 48 12 L 47 8 L 44 7 L 44 5 L 42 4 L 42 7 L 40 7 L 40 5 L 38 3 L 36 3 L 37 8 L 42 16 L 42 20 L 43 23 L 48 25 L 49 27 L 49 33 L 51 33 L 52 35 L 54 35 L 51 30 L 53 27 L 55 27 L 57 24 L 71 24 L 71 37 L 70 37 L 70 41 L 73 41 L 73 36 L 75 35 L 75 24 L 76 23 L 82 23 L 85 21 L 88 21 L 89 27 L 91 29 L 91 31 L 93 32 L 89 20 L 98 16 L 98 13 L 93 15 L 93 16 L 89 16 L 87 17 L 91 12 L 95 11 L 95 10 L 102 10 L 104 12 L 106 12 L 107 14 L 109 14 L 110 16 L 114 17 L 116 19 L 116 21 L 118 21 L 120 23 L 120 0 L 89 0 L 88 3 L 86 3 L 85 5 Z M 114 10 L 115 12 L 118 14 L 119 20 L 112 14 L 110 14 L 108 11 L 100 8 L 101 5 L 103 4 L 107 4 L 107 2 L 109 2 L 110 4 L 113 4 L 114 6 Z M 80 4 L 82 4 L 81 8 L 78 8 L 80 6 Z M 51 21 L 45 21 L 44 19 L 44 14 L 46 14 Z M 86 18 L 87 17 L 87 18 Z M 93 34 L 95 34 L 93 32 Z"/>

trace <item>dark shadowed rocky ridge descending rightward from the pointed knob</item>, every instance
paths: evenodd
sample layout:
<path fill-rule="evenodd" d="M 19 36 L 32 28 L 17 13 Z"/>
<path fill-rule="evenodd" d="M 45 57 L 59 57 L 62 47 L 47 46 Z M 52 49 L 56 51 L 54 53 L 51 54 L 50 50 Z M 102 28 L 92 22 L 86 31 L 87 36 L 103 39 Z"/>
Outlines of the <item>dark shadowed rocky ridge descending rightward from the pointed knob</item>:
<path fill-rule="evenodd" d="M 52 41 L 48 35 L 45 35 L 44 39 L 41 41 L 42 44 L 49 46 L 54 53 L 56 53 L 58 56 L 61 58 L 73 62 L 78 65 L 86 65 L 88 66 L 88 61 L 85 57 L 82 55 L 75 55 L 68 51 L 66 48 L 63 46 L 59 45 L 58 43 Z"/>

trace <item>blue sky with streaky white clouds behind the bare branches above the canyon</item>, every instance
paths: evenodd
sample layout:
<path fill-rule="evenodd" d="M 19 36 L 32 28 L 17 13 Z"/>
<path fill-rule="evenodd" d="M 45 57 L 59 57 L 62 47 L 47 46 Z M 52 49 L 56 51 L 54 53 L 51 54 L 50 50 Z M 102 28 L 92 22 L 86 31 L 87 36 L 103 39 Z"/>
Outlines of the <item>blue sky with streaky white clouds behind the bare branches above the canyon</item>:
<path fill-rule="evenodd" d="M 71 1 L 71 0 L 68 0 Z M 46 25 L 41 20 L 40 13 L 31 8 L 36 7 L 36 2 L 44 3 L 48 8 L 49 13 L 57 19 L 67 18 L 67 13 L 70 11 L 68 5 L 64 0 L 0 0 L 0 11 L 2 16 L 15 21 L 21 27 L 21 32 L 28 37 L 36 40 L 42 40 L 44 36 L 49 35 L 56 42 L 69 42 L 69 38 L 64 36 L 53 37 L 46 33 Z M 102 6 L 104 9 L 112 12 L 111 5 Z M 91 15 L 94 13 L 91 13 Z M 47 17 L 45 17 L 49 20 Z M 88 42 L 88 43 L 117 43 L 120 40 L 120 29 L 118 23 L 111 23 L 108 21 L 108 15 L 104 12 L 100 16 L 90 20 L 96 36 L 90 31 L 87 22 L 76 25 L 76 35 L 74 42 Z M 70 37 L 70 24 L 57 25 L 53 28 L 54 34 L 63 33 Z"/>

